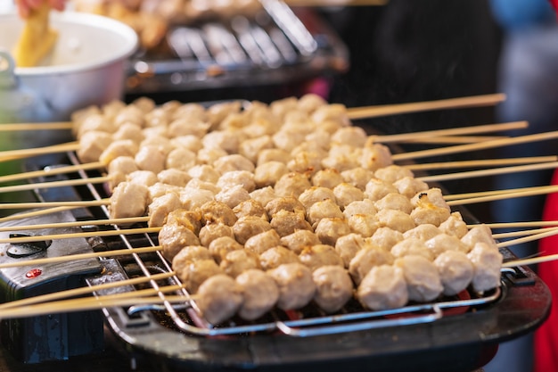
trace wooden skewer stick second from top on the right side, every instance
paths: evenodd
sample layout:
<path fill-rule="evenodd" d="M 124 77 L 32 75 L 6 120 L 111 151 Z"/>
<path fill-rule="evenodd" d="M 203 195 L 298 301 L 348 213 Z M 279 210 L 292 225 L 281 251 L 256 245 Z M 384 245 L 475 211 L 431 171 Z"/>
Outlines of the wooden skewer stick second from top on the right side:
<path fill-rule="evenodd" d="M 423 132 L 413 133 L 399 133 L 398 135 L 370 136 L 370 138 L 372 138 L 373 143 L 380 142 L 382 144 L 389 144 L 393 142 L 405 142 L 409 140 L 412 141 L 419 137 L 431 138 L 436 136 L 472 135 L 480 133 L 499 132 L 511 129 L 524 129 L 528 127 L 528 121 L 512 121 L 499 124 L 475 125 L 472 127 L 425 130 Z"/>

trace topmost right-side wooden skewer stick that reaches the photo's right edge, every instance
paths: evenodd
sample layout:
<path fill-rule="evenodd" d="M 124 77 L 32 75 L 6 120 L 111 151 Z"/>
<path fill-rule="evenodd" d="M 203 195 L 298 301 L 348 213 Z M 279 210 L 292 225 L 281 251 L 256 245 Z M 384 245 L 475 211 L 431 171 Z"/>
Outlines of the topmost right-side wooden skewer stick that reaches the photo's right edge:
<path fill-rule="evenodd" d="M 436 148 L 436 149 L 415 151 L 415 152 L 411 152 L 411 153 L 394 153 L 394 154 L 391 155 L 391 159 L 393 161 L 402 161 L 402 160 L 427 158 L 427 157 L 430 157 L 430 156 L 446 155 L 446 154 L 449 154 L 449 153 L 464 153 L 464 152 L 467 152 L 467 151 L 488 149 L 488 148 L 493 148 L 493 147 L 526 144 L 526 143 L 529 143 L 529 142 L 544 141 L 544 140 L 549 140 L 549 139 L 553 139 L 553 138 L 558 138 L 558 131 L 555 130 L 553 132 L 537 133 L 535 135 L 516 136 L 516 137 L 513 137 L 513 138 L 496 139 L 494 141 L 485 141 L 485 142 L 480 142 L 478 144 L 467 144 L 467 145 L 455 145 L 455 146 L 440 147 L 440 148 Z"/>

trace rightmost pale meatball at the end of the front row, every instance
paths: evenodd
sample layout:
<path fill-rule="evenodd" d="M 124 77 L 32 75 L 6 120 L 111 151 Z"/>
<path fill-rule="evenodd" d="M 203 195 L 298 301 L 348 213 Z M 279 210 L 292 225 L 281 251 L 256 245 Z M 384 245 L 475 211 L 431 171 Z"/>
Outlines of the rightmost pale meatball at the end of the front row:
<path fill-rule="evenodd" d="M 480 293 L 500 285 L 502 254 L 492 245 L 480 242 L 467 254 L 474 266 L 472 287 Z"/>

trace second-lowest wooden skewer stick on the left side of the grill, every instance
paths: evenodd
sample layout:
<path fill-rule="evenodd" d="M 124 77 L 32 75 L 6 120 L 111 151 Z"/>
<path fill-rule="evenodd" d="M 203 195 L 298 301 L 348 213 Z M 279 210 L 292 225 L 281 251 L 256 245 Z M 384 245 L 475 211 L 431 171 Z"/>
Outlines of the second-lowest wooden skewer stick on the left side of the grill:
<path fill-rule="evenodd" d="M 79 287 L 74 289 L 68 289 L 60 292 L 41 294 L 38 296 L 33 296 L 33 297 L 29 297 L 17 301 L 4 302 L 0 304 L 0 310 L 14 308 L 18 306 L 24 306 L 24 305 L 31 305 L 33 303 L 54 301 L 54 300 L 60 300 L 62 298 L 81 296 L 84 294 L 93 293 L 95 291 L 103 291 L 112 288 L 119 288 L 119 287 L 124 287 L 126 285 L 139 285 L 152 280 L 167 279 L 168 277 L 173 277 L 174 275 L 175 275 L 174 272 L 161 273 L 161 274 L 154 274 L 152 276 L 147 276 L 147 277 L 146 276 L 134 277 L 131 279 L 103 283 L 102 285 L 85 286 L 85 287 Z M 181 285 L 176 285 L 176 286 L 179 287 L 178 289 L 182 288 Z M 135 292 L 139 292 L 139 291 L 135 291 Z"/>

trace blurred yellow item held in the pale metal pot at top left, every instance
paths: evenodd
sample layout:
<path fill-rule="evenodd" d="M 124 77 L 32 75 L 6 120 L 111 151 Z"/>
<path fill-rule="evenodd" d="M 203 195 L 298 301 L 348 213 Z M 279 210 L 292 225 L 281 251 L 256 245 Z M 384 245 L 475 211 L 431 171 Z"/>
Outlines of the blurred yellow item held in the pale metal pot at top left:
<path fill-rule="evenodd" d="M 29 14 L 20 38 L 13 49 L 13 59 L 19 67 L 39 65 L 51 53 L 58 32 L 49 25 L 50 7 L 46 2 Z"/>

